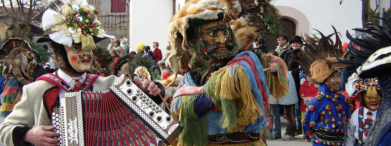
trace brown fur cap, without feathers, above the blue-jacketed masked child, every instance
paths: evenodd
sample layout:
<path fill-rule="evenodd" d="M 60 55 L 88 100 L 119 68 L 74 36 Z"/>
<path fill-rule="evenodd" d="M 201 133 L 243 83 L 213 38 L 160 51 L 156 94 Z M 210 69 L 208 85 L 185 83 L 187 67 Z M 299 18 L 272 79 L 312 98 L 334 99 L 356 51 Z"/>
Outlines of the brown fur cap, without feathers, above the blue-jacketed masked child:
<path fill-rule="evenodd" d="M 344 60 L 344 58 L 339 58 Z M 323 83 L 328 76 L 339 68 L 344 68 L 346 65 L 338 63 L 334 57 L 315 60 L 310 67 L 311 81 L 315 84 Z"/>

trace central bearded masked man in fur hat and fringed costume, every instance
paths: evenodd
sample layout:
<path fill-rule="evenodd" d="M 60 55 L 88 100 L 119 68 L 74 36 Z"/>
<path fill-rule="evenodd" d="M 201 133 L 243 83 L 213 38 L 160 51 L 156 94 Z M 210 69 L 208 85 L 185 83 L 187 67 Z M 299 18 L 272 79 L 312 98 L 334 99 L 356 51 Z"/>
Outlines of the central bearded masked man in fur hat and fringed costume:
<path fill-rule="evenodd" d="M 260 133 L 269 132 L 264 129 L 269 125 L 265 118 L 269 88 L 263 70 L 268 63 L 243 51 L 235 38 L 228 22 L 240 11 L 238 1 L 191 0 L 171 19 L 173 53 L 167 60 L 174 73 L 191 66 L 171 103 L 173 116 L 184 127 L 173 145 L 265 145 Z M 188 54 L 191 59 L 186 62 Z M 285 63 L 270 66 L 269 72 L 285 77 L 287 86 Z"/>

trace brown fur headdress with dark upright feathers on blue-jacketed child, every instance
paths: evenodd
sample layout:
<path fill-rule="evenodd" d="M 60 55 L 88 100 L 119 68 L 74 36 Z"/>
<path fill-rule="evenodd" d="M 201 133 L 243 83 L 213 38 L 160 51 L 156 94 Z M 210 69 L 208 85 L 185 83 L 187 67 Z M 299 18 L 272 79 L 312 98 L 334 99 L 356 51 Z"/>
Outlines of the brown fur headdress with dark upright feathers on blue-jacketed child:
<path fill-rule="evenodd" d="M 325 36 L 319 30 L 316 30 L 320 38 L 316 35 L 309 37 L 305 35 L 306 44 L 302 44 L 307 49 L 301 49 L 303 56 L 298 55 L 300 60 L 296 60 L 300 63 L 301 70 L 305 76 L 311 77 L 312 82 L 316 84 L 323 83 L 325 79 L 330 76 L 335 70 L 346 67 L 346 65 L 338 64 L 338 56 L 340 60 L 346 58 L 346 53 L 342 50 L 342 43 L 339 39 L 337 30 L 334 33 Z M 331 37 L 335 35 L 335 43 Z"/>

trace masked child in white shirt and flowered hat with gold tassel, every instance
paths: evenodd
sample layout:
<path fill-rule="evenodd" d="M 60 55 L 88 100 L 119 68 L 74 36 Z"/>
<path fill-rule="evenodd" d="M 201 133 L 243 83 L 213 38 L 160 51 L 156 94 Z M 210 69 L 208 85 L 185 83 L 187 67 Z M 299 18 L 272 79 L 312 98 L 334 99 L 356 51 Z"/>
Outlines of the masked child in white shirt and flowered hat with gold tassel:
<path fill-rule="evenodd" d="M 364 146 L 369 129 L 376 120 L 382 92 L 377 78 L 362 79 L 357 73 L 349 77 L 346 85 L 346 88 L 353 88 L 357 94 L 360 94 L 361 108 L 356 109 L 350 118 L 345 146 Z"/>

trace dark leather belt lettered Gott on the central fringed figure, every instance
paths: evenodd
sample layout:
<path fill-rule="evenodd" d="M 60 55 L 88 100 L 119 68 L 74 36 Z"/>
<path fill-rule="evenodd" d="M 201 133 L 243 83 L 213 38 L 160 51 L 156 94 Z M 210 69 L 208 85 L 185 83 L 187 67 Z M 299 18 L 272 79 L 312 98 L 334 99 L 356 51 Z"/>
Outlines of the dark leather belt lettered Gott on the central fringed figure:
<path fill-rule="evenodd" d="M 226 134 L 210 135 L 209 142 L 214 144 L 241 144 L 254 142 L 260 139 L 259 133 L 232 132 Z"/>

